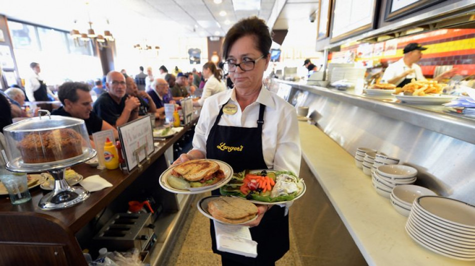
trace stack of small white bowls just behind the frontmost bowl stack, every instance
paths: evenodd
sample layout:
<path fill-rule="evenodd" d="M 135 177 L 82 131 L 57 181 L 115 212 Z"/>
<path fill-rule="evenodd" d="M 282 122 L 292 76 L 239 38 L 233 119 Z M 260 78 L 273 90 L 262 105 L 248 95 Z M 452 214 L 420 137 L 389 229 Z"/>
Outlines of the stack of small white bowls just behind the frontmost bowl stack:
<path fill-rule="evenodd" d="M 417 180 L 417 169 L 398 164 L 381 165 L 372 175 L 372 185 L 377 194 L 390 198 L 392 189 L 398 185 L 410 185 Z"/>

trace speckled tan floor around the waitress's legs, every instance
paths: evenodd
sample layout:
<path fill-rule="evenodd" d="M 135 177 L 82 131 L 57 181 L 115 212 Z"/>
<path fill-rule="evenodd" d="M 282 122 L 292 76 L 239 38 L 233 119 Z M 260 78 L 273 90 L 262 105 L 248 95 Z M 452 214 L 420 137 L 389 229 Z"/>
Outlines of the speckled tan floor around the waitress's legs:
<path fill-rule="evenodd" d="M 219 266 L 221 259 L 219 255 L 211 251 L 211 237 L 209 235 L 209 219 L 201 215 L 195 208 L 196 202 L 201 197 L 197 196 L 191 203 L 188 219 L 184 223 L 180 234 L 175 242 L 174 249 L 164 265 L 167 266 L 192 266 L 207 265 Z M 290 225 L 290 251 L 276 262 L 276 266 L 301 266 L 299 256 L 296 251 L 292 227 Z"/>

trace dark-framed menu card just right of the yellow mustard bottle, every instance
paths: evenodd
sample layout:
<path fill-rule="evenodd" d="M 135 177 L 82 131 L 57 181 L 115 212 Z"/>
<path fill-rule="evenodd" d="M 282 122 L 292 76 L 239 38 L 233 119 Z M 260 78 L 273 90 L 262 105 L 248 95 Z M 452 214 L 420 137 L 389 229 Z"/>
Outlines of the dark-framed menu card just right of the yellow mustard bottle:
<path fill-rule="evenodd" d="M 153 146 L 150 117 L 144 116 L 118 126 L 117 131 L 120 143 L 122 144 L 127 170 L 131 171 L 139 162 L 145 159 L 145 152 L 147 155 L 150 155 L 154 151 L 155 146 Z M 139 150 L 143 145 L 145 149 Z M 134 154 L 135 152 L 138 152 L 138 162 Z"/>

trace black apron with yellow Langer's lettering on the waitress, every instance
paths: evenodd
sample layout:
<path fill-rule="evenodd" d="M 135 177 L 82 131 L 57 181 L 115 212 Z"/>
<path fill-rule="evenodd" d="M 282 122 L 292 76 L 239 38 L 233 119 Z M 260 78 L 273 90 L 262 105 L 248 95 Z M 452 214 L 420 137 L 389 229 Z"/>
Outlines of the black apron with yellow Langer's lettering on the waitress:
<path fill-rule="evenodd" d="M 264 123 L 265 105 L 260 104 L 257 127 L 245 128 L 235 126 L 219 126 L 222 116 L 222 107 L 206 140 L 206 158 L 217 159 L 228 163 L 234 172 L 245 169 L 267 169 L 262 154 L 262 124 Z M 240 147 L 240 151 L 228 152 L 217 148 L 220 145 Z M 219 190 L 212 191 L 219 195 Z M 260 221 L 259 226 L 250 228 L 252 240 L 257 242 L 257 258 L 248 258 L 216 249 L 214 226 L 211 221 L 210 232 L 212 250 L 227 259 L 243 265 L 267 265 L 273 263 L 289 249 L 288 215 L 284 216 L 285 208 L 274 206 L 270 208 Z"/>

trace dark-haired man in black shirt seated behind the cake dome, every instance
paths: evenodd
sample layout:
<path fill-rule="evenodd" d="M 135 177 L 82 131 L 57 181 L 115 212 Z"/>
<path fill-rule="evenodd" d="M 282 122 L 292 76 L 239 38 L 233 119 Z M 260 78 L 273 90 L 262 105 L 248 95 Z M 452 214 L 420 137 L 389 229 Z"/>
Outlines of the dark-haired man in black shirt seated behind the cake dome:
<path fill-rule="evenodd" d="M 114 137 L 118 137 L 117 130 L 92 111 L 92 98 L 86 84 L 65 82 L 59 86 L 57 95 L 62 106 L 52 111 L 52 115 L 83 119 L 89 136 L 101 130 L 112 129 Z M 92 142 L 91 144 L 94 145 Z"/>

